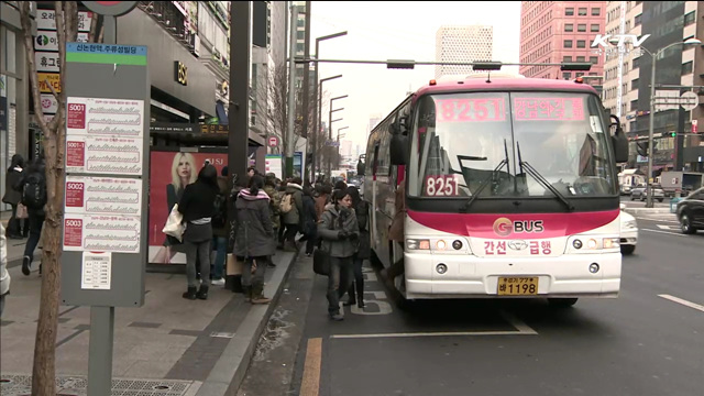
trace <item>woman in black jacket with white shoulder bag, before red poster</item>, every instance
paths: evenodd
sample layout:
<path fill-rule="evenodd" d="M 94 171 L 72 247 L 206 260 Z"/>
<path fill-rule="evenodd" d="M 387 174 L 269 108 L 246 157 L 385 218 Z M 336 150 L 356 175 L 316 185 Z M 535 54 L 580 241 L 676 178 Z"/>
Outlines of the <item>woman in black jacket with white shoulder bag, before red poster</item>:
<path fill-rule="evenodd" d="M 208 164 L 198 173 L 196 183 L 189 184 L 178 202 L 178 211 L 184 216 L 186 231 L 184 245 L 186 251 L 187 299 L 208 299 L 210 279 L 210 244 L 212 243 L 212 216 L 215 201 L 219 193 L 218 169 Z M 200 288 L 196 278 L 196 257 L 200 260 Z"/>

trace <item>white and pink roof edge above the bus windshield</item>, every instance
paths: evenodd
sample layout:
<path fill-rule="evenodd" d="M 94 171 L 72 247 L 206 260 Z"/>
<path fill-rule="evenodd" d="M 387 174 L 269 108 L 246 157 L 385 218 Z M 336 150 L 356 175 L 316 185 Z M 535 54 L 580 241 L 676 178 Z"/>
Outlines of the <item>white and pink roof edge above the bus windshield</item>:
<path fill-rule="evenodd" d="M 484 78 L 466 78 L 464 80 L 438 81 L 436 85 L 425 85 L 416 91 L 418 98 L 426 94 L 466 92 L 486 90 L 530 90 L 530 91 L 575 91 L 597 94 L 588 84 L 574 80 L 546 78 L 494 78 L 486 82 Z"/>

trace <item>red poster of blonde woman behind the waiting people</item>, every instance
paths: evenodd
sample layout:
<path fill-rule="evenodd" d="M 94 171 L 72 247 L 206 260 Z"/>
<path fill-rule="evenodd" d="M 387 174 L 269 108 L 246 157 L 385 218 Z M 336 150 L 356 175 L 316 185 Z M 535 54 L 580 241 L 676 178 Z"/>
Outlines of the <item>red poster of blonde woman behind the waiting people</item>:
<path fill-rule="evenodd" d="M 206 161 L 222 173 L 227 153 L 152 152 L 150 183 L 150 263 L 186 264 L 183 244 L 162 232 L 168 213 L 187 185 L 195 183 Z"/>

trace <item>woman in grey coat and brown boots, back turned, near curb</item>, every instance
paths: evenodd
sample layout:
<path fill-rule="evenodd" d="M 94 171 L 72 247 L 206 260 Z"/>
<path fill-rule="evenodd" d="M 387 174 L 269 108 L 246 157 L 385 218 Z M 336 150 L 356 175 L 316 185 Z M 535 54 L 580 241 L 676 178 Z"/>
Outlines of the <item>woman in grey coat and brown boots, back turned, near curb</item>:
<path fill-rule="evenodd" d="M 268 195 L 264 191 L 264 179 L 260 175 L 250 178 L 249 188 L 238 195 L 238 231 L 234 240 L 234 255 L 244 261 L 242 288 L 244 297 L 252 304 L 268 304 L 264 297 L 264 272 L 268 257 L 276 251 L 274 228 L 268 209 Z M 252 277 L 252 265 L 256 271 Z"/>

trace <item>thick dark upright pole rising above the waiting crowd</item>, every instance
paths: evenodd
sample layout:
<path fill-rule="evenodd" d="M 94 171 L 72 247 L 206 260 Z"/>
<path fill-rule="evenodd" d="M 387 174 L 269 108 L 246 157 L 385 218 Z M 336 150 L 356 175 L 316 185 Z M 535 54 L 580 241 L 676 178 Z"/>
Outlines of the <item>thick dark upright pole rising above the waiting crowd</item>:
<path fill-rule="evenodd" d="M 251 1 L 232 2 L 230 26 L 228 168 L 230 176 L 237 175 L 240 178 L 244 177 L 249 165 L 251 3 Z"/>

